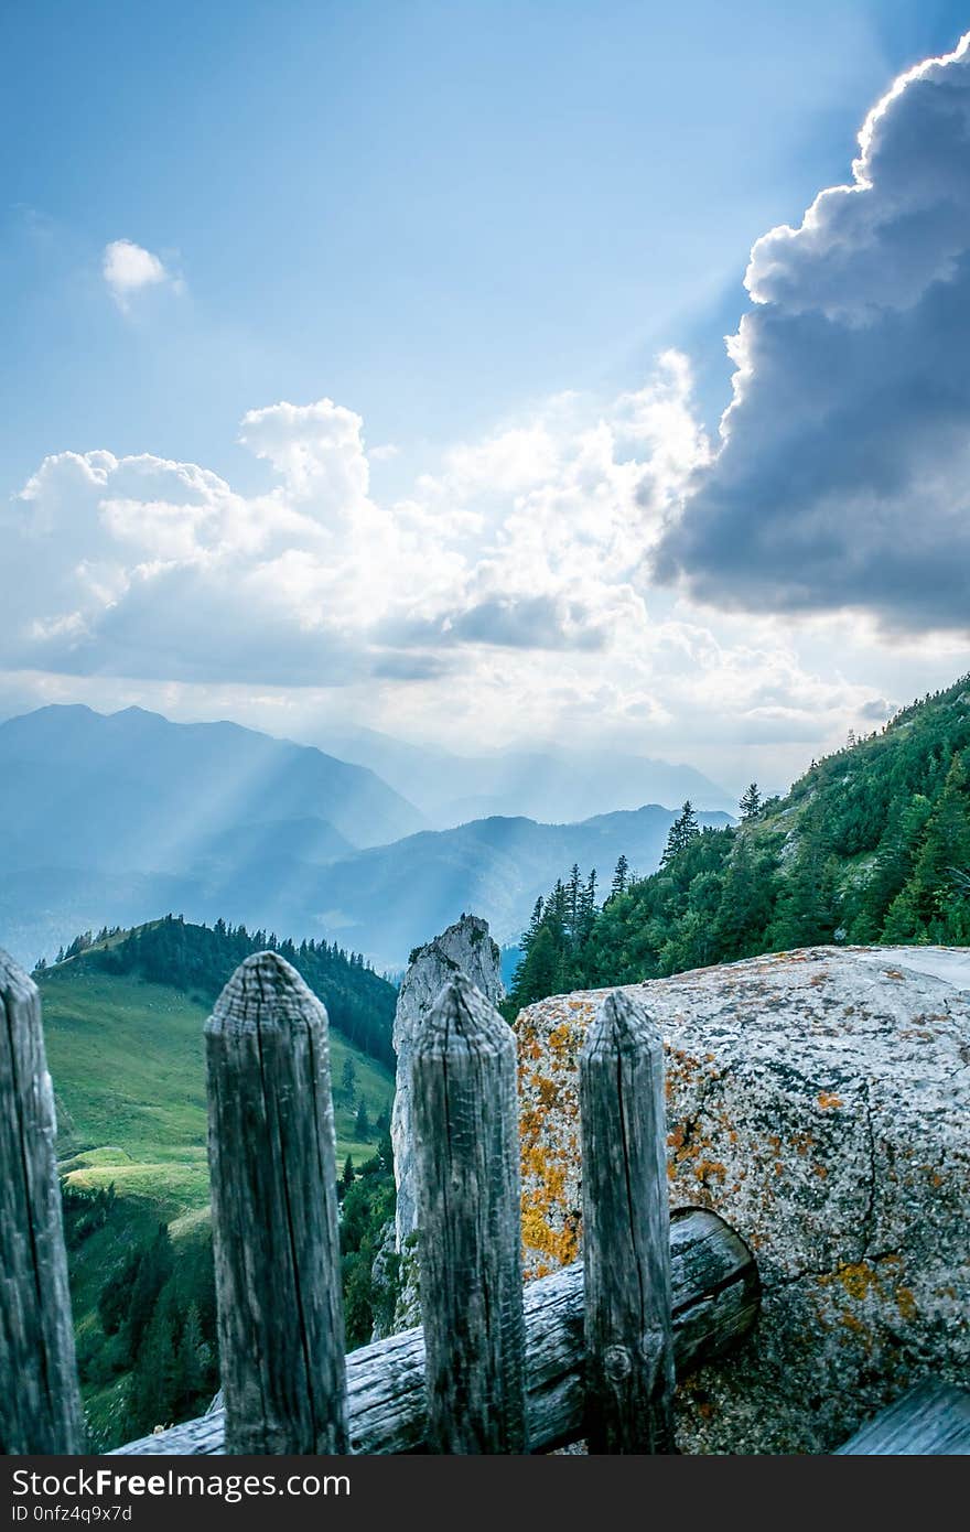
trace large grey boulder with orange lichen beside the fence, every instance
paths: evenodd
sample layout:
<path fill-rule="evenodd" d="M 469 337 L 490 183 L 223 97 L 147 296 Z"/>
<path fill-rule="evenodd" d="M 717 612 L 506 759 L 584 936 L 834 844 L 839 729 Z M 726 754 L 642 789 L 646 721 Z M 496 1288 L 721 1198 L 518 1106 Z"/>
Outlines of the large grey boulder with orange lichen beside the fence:
<path fill-rule="evenodd" d="M 667 1045 L 674 1207 L 759 1259 L 763 1310 L 677 1391 L 687 1452 L 826 1452 L 970 1363 L 970 954 L 817 948 L 636 987 Z M 945 977 L 944 977 L 945 974 Z M 516 1020 L 526 1268 L 579 1250 L 576 1056 L 604 991 Z"/>

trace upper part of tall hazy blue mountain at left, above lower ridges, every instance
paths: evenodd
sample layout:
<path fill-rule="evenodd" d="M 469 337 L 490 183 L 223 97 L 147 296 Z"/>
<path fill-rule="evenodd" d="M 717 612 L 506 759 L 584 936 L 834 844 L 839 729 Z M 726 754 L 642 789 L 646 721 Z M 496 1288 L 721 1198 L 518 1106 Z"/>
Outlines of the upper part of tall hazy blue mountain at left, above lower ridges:
<path fill-rule="evenodd" d="M 426 823 L 374 772 L 236 723 L 72 706 L 0 725 L 8 869 L 195 870 L 213 836 L 267 820 L 325 821 L 336 850 L 380 846 Z"/>

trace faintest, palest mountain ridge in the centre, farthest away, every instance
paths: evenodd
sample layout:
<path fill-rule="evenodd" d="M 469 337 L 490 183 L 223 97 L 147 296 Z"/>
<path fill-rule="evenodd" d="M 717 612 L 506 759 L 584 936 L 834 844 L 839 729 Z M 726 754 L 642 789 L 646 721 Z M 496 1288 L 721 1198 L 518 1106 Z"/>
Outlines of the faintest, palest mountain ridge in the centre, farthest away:
<path fill-rule="evenodd" d="M 492 815 L 526 815 L 546 824 L 575 824 L 644 803 L 734 810 L 729 792 L 693 766 L 613 751 L 495 751 L 454 755 L 408 745 L 372 729 L 329 734 L 329 751 L 369 766 L 415 803 L 437 829 Z"/>

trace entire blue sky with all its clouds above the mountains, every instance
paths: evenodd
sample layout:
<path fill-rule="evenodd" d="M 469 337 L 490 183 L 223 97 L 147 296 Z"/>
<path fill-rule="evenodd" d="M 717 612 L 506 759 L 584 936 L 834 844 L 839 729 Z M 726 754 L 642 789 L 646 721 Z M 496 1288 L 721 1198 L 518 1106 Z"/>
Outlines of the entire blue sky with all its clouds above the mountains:
<path fill-rule="evenodd" d="M 780 787 L 970 669 L 968 29 L 8 0 L 0 715 Z"/>

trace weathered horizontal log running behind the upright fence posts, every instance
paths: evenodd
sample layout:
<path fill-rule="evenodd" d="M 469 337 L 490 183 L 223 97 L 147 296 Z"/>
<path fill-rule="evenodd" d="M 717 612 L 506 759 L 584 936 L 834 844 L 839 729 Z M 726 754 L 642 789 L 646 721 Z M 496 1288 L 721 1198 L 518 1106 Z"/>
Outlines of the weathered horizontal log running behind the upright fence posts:
<path fill-rule="evenodd" d="M 671 1216 L 674 1360 L 685 1377 L 720 1356 L 754 1324 L 760 1285 L 754 1256 L 717 1213 Z M 582 1262 L 530 1282 L 524 1293 L 529 1440 L 547 1452 L 582 1435 Z M 424 1336 L 405 1330 L 346 1359 L 351 1452 L 424 1449 Z M 219 1454 L 224 1413 L 118 1448 L 120 1454 Z"/>

